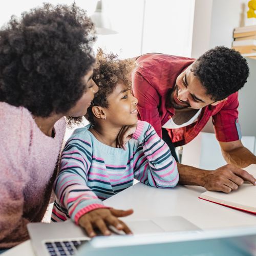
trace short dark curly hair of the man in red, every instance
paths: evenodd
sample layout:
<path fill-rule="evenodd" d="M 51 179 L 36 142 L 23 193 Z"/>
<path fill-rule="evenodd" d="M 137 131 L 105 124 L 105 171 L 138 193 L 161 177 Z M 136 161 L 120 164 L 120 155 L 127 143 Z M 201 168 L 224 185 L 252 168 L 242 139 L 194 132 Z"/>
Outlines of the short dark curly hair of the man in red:
<path fill-rule="evenodd" d="M 247 81 L 249 68 L 235 50 L 218 46 L 200 56 L 191 68 L 214 101 L 240 90 Z"/>

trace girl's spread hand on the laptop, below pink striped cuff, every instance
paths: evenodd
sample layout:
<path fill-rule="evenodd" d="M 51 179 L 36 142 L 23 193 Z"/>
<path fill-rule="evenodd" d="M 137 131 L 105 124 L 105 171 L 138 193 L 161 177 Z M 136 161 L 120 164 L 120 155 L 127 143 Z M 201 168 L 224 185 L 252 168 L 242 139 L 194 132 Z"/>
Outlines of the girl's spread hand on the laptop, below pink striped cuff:
<path fill-rule="evenodd" d="M 89 211 L 79 219 L 79 225 L 83 227 L 89 237 L 95 237 L 94 228 L 98 228 L 104 236 L 111 234 L 108 225 L 114 226 L 118 230 L 123 230 L 126 234 L 132 234 L 129 227 L 124 222 L 117 219 L 118 217 L 125 217 L 131 215 L 133 210 L 117 210 L 114 208 L 105 209 L 99 208 Z"/>

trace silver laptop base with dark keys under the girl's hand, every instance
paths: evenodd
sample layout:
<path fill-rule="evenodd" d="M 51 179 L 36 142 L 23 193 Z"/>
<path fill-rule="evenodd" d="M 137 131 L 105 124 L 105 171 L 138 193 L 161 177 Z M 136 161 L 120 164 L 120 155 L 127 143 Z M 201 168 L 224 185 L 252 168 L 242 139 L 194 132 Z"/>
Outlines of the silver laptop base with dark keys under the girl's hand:
<path fill-rule="evenodd" d="M 179 232 L 200 232 L 200 228 L 181 216 L 166 216 L 152 219 L 125 221 L 134 236 Z M 123 234 L 110 227 L 111 237 Z M 37 256 L 75 255 L 81 245 L 91 240 L 86 232 L 71 220 L 58 223 L 29 223 L 28 231 Z M 119 236 L 126 240 L 130 236 Z M 101 239 L 106 237 L 101 236 Z M 95 239 L 95 238 L 94 238 Z M 92 240 L 94 240 L 92 239 Z"/>

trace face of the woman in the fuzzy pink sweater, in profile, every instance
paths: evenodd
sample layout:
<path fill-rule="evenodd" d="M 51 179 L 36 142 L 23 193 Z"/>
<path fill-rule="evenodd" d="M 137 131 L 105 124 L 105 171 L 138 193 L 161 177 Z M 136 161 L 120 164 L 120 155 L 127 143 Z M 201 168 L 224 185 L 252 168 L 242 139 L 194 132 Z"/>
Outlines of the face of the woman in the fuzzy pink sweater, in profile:
<path fill-rule="evenodd" d="M 91 101 L 94 98 L 94 94 L 98 92 L 99 88 L 92 79 L 93 70 L 90 70 L 84 77 L 84 83 L 86 84 L 86 90 L 82 97 L 76 102 L 73 108 L 66 114 L 66 116 L 79 117 L 84 116 L 87 113 L 87 109 L 91 105 Z"/>

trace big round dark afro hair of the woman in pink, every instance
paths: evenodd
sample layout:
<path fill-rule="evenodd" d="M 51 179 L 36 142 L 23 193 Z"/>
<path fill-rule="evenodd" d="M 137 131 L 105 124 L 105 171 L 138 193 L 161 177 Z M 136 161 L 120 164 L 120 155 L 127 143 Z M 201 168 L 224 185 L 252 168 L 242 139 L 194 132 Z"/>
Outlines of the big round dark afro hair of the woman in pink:
<path fill-rule="evenodd" d="M 85 11 L 44 4 L 0 30 L 0 101 L 34 116 L 67 113 L 86 90 L 95 29 Z"/>

